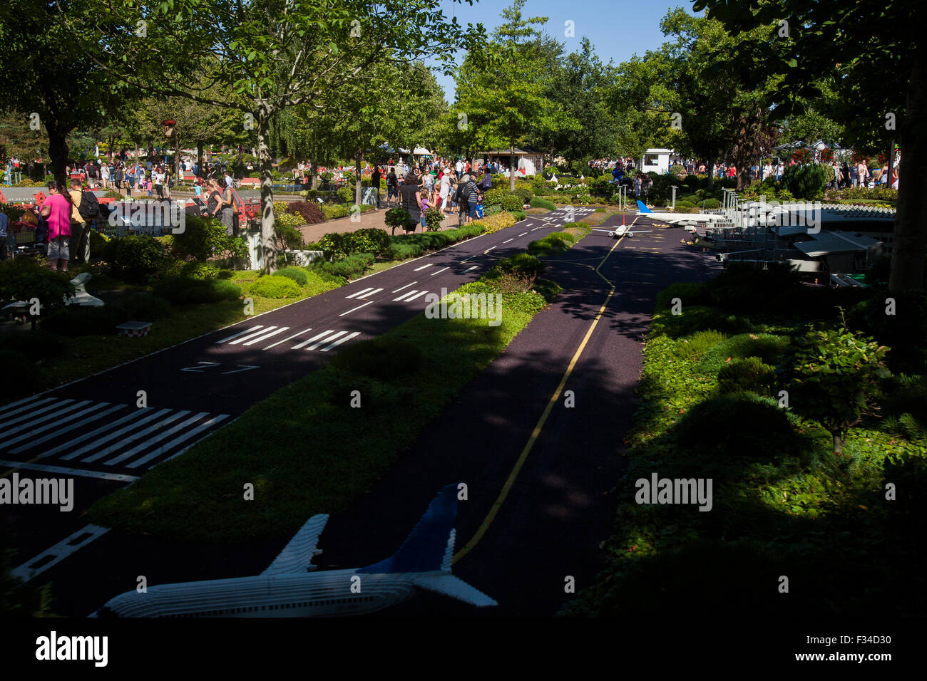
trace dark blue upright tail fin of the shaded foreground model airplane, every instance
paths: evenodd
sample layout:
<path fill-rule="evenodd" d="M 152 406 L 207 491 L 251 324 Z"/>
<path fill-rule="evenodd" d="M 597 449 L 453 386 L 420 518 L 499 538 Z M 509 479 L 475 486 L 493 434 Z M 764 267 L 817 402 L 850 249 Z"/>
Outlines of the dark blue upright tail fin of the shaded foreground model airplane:
<path fill-rule="evenodd" d="M 457 485 L 448 485 L 432 499 L 396 553 L 385 561 L 361 568 L 359 573 L 427 573 L 451 571 L 453 527 L 457 516 Z M 449 549 L 450 548 L 450 549 Z"/>

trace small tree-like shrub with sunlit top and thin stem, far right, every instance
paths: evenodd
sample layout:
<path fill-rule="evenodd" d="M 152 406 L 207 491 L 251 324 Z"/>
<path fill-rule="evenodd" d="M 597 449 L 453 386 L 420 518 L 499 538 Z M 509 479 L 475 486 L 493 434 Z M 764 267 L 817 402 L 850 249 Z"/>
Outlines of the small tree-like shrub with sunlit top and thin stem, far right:
<path fill-rule="evenodd" d="M 788 372 L 793 404 L 830 431 L 834 452 L 843 451 L 846 432 L 875 395 L 877 379 L 889 375 L 883 366 L 887 350 L 845 329 L 795 339 Z"/>

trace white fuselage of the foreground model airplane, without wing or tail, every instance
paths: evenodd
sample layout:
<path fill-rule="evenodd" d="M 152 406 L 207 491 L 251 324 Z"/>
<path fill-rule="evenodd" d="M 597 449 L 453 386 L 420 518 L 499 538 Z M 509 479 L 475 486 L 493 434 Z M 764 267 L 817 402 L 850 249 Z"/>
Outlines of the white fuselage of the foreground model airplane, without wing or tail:
<path fill-rule="evenodd" d="M 99 612 L 118 617 L 319 617 L 375 612 L 408 599 L 423 574 L 352 570 L 273 574 L 149 586 L 127 591 Z"/>

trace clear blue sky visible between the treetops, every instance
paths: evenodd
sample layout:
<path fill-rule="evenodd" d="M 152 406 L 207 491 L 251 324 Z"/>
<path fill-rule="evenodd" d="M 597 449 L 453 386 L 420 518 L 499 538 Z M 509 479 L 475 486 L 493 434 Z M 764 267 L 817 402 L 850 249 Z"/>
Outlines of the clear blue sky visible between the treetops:
<path fill-rule="evenodd" d="M 456 16 L 464 26 L 467 23 L 482 23 L 487 33 L 502 23 L 502 9 L 511 4 L 511 0 L 481 0 L 474 2 L 473 6 L 465 2 L 439 1 L 445 15 Z M 544 31 L 564 42 L 567 54 L 578 49 L 582 37 L 586 36 L 603 62 L 614 59 L 619 64 L 635 53 L 642 55 L 663 44 L 665 38 L 660 32 L 660 19 L 663 19 L 670 7 L 683 7 L 692 12 L 692 3 L 688 0 L 527 0 L 522 16 L 547 17 Z M 574 38 L 565 37 L 567 20 L 573 21 L 576 27 Z M 463 53 L 458 57 L 460 63 Z M 453 79 L 443 74 L 436 75 L 448 102 L 452 103 Z"/>

